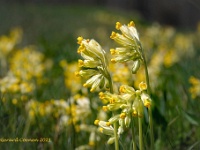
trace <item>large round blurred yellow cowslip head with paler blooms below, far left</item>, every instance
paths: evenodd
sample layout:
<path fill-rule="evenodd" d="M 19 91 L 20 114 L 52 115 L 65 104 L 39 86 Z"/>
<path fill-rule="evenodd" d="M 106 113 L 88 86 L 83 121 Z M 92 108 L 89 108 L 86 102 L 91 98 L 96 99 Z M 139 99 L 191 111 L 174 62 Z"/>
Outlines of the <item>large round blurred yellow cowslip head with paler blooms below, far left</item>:
<path fill-rule="evenodd" d="M 17 62 L 17 63 L 16 63 Z M 7 60 L 9 71 L 0 79 L 0 91 L 2 93 L 31 93 L 34 91 L 36 84 L 44 82 L 44 71 L 47 69 L 44 63 L 44 55 L 33 47 L 15 51 L 14 55 Z"/>

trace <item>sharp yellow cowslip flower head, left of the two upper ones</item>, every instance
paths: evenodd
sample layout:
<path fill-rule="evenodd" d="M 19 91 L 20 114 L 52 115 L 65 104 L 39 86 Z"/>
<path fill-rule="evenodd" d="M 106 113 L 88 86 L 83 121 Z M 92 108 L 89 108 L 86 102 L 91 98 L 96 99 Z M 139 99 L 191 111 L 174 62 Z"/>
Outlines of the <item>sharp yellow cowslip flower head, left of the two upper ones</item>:
<path fill-rule="evenodd" d="M 108 87 L 108 72 L 107 72 L 107 60 L 105 58 L 105 51 L 100 44 L 94 39 L 83 39 L 78 37 L 78 53 L 84 58 L 79 59 L 78 64 L 81 68 L 75 74 L 85 78 L 87 81 L 83 85 L 84 87 L 90 87 L 90 91 L 96 91 L 98 88 Z"/>

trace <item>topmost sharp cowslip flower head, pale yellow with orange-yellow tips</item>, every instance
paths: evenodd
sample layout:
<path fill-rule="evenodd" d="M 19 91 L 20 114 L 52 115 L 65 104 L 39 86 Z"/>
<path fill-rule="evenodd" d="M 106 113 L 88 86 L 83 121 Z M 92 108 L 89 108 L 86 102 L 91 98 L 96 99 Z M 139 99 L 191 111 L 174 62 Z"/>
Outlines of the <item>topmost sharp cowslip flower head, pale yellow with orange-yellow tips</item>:
<path fill-rule="evenodd" d="M 110 38 L 121 45 L 121 47 L 110 49 L 111 55 L 115 56 L 115 58 L 111 59 L 111 62 L 133 61 L 132 73 L 136 73 L 143 57 L 135 24 L 133 21 L 128 25 L 122 25 L 120 22 L 117 22 L 116 29 L 120 30 L 122 34 L 113 31 Z"/>

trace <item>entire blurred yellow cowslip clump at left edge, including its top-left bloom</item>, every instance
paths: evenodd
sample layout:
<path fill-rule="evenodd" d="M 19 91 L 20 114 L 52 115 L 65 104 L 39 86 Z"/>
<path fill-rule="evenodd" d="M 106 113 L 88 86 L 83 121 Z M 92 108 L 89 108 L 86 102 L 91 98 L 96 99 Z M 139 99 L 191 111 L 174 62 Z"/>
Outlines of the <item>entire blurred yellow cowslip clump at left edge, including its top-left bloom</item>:
<path fill-rule="evenodd" d="M 46 82 L 45 71 L 52 65 L 34 46 L 17 48 L 21 36 L 22 30 L 16 28 L 10 36 L 0 37 L 0 93 L 5 104 L 17 106 L 24 105 L 37 86 Z"/>

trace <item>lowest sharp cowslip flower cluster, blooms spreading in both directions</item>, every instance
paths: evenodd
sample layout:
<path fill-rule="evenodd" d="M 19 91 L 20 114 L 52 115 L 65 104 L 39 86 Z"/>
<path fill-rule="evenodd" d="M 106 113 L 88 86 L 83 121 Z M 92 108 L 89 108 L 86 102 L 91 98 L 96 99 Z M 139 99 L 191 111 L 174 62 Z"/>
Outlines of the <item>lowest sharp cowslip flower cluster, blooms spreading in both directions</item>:
<path fill-rule="evenodd" d="M 112 116 L 107 122 L 95 120 L 95 124 L 99 125 L 102 133 L 110 135 L 109 144 L 114 142 L 113 124 L 118 121 L 118 137 L 124 132 L 125 128 L 130 126 L 131 117 L 143 117 L 144 106 L 151 106 L 151 98 L 147 94 L 147 85 L 144 82 L 139 84 L 139 90 L 135 90 L 128 85 L 122 85 L 119 88 L 119 94 L 111 94 L 110 92 L 100 92 L 99 97 L 103 103 L 104 111 L 120 111 L 119 114 Z"/>

